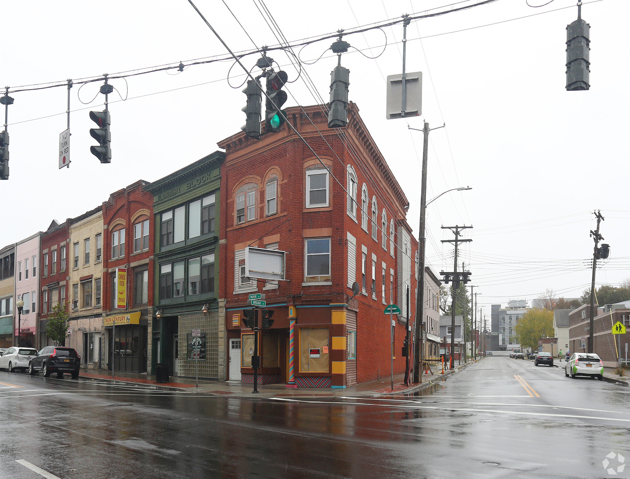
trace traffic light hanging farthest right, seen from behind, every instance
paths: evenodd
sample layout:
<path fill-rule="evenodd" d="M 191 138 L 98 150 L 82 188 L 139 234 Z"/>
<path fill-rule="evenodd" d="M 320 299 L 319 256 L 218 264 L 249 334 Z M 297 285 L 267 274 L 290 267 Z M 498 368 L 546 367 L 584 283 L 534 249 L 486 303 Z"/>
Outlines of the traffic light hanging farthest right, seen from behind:
<path fill-rule="evenodd" d="M 588 83 L 590 74 L 589 32 L 590 25 L 579 15 L 578 20 L 566 26 L 567 91 L 588 90 L 590 88 Z"/>

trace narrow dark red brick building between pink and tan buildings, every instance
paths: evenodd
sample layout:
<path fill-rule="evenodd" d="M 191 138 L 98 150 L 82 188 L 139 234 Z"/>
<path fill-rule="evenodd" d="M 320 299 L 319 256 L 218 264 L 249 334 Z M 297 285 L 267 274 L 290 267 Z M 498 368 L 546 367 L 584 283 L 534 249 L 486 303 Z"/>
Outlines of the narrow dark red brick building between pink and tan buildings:
<path fill-rule="evenodd" d="M 40 255 L 40 297 L 39 338 L 37 347 L 52 345 L 46 335 L 48 315 L 58 303 L 66 304 L 68 298 L 69 269 L 68 255 L 70 252 L 70 218 L 63 223 L 55 220 L 42 233 L 42 254 Z"/>

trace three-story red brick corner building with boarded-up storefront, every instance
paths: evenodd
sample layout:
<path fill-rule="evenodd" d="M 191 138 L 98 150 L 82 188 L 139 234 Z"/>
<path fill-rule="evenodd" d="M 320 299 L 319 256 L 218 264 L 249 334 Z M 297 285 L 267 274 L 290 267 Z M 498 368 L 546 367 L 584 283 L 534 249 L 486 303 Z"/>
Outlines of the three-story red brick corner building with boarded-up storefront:
<path fill-rule="evenodd" d="M 255 292 L 275 312 L 259 339 L 261 383 L 344 388 L 389 375 L 390 303 L 402 310 L 394 374 L 402 373 L 416 297 L 408 200 L 356 105 L 345 128 L 329 129 L 320 105 L 289 108 L 287 117 L 317 155 L 289 125 L 261 140 L 238 133 L 219 143 L 228 380 L 252 381 L 253 333 L 241 318 Z M 287 252 L 286 281 L 246 277 L 248 246 Z M 350 300 L 355 281 L 360 293 Z"/>

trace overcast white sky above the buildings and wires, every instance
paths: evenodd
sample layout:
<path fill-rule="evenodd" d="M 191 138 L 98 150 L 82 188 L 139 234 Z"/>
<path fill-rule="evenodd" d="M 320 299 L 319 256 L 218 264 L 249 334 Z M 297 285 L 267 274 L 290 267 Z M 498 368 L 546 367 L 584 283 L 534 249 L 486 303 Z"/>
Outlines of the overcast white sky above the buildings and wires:
<path fill-rule="evenodd" d="M 221 0 L 195 3 L 232 50 L 253 48 Z M 278 43 L 253 1 L 226 3 L 256 45 Z M 530 300 L 546 288 L 580 296 L 590 283 L 588 232 L 598 208 L 612 250 L 598 283 L 620 283 L 630 276 L 630 67 L 622 48 L 630 3 L 584 4 L 582 16 L 591 25 L 592 88 L 567 92 L 565 28 L 576 18 L 575 3 L 554 0 L 530 8 L 525 0 L 498 0 L 411 23 L 407 69 L 423 72 L 423 115 L 411 120 L 385 118 L 385 77 L 401 72 L 402 26 L 345 37 L 369 56 L 381 54 L 387 43 L 376 60 L 351 50 L 342 64 L 350 69 L 350 99 L 411 202 L 408 221 L 416 234 L 422 135 L 408 125 L 422 128 L 423 119 L 431 127 L 446 123 L 431 133 L 428 198 L 458 186 L 473 190 L 447 193 L 429 206 L 428 261 L 436 273 L 450 270 L 452 247 L 440 240 L 452 234 L 440 226 L 472 224 L 467 237 L 473 242 L 462 247 L 461 261 L 470 265 L 473 284 L 479 285 L 479 303 Z M 290 41 L 444 5 L 440 0 L 266 1 Z M 186 0 L 12 2 L 3 5 L 3 17 L 10 19 L 2 28 L 3 86 L 226 53 Z M 309 45 L 300 57 L 316 60 L 331 43 Z M 287 55 L 272 56 L 288 65 L 289 78 L 295 79 Z M 243 62 L 251 67 L 256 59 L 251 55 Z M 324 99 L 335 64 L 328 52 L 304 67 Z M 103 96 L 81 103 L 97 96 L 99 84 L 84 86 L 78 97 L 79 87 L 72 88 L 72 164 L 62 170 L 57 169 L 57 149 L 66 128 L 67 90 L 13 94 L 11 176 L 0 182 L 0 244 L 45 230 L 53 218 L 79 215 L 137 179 L 154 181 L 216 150 L 217 141 L 244 123 L 244 95 L 226 81 L 230 67 L 231 62 L 215 62 L 179 74 L 112 81 L 127 100 L 120 101 L 117 93 L 110 97 L 108 165 L 89 152 L 95 141 L 89 136 L 88 111 L 101 110 Z M 230 79 L 233 86 L 243 82 L 238 65 Z M 303 78 L 288 89 L 287 106 L 318 103 Z"/>

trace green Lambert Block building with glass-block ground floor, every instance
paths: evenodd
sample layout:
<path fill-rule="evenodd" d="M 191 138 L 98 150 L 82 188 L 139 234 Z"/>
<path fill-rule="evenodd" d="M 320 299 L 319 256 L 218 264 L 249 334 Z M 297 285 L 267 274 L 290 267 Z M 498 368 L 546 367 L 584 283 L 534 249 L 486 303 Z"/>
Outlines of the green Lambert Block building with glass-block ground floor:
<path fill-rule="evenodd" d="M 225 379 L 225 308 L 219 304 L 219 201 L 223 152 L 154 181 L 155 308 L 151 374 L 195 376 L 192 341 L 200 341 L 198 376 Z M 204 310 L 207 309 L 207 312 Z M 199 339 L 195 339 L 199 337 Z"/>

